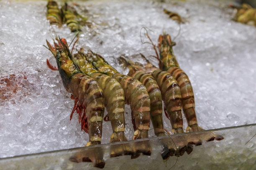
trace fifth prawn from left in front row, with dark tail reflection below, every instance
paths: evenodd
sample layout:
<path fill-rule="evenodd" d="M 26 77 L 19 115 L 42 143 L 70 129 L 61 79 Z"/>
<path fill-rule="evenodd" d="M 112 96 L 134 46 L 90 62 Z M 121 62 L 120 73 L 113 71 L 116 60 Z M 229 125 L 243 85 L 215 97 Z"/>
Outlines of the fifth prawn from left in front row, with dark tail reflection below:
<path fill-rule="evenodd" d="M 170 120 L 172 125 L 172 133 L 184 133 L 183 131 L 183 120 L 182 120 L 182 108 L 181 108 L 181 92 L 177 85 L 177 81 L 166 71 L 162 71 L 159 68 L 149 62 L 144 55 L 141 57 L 146 61 L 145 65 L 138 62 L 130 62 L 134 67 L 143 68 L 156 80 L 162 94 L 162 100 L 164 101 L 164 112 L 166 117 Z M 165 143 L 165 142 L 164 142 Z M 173 148 L 172 144 L 166 142 L 164 144 L 164 149 L 162 151 L 162 158 L 166 160 L 169 156 L 182 156 L 185 152 L 190 154 L 193 150 L 193 145 L 191 143 L 181 143 L 176 149 Z M 196 142 L 195 145 L 200 145 L 200 141 Z"/>

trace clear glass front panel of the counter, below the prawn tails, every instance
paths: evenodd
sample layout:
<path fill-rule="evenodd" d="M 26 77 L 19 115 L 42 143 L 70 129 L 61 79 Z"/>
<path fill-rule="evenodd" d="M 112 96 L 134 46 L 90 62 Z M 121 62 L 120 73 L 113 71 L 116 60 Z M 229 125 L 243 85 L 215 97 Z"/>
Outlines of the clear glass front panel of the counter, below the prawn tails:
<path fill-rule="evenodd" d="M 203 142 L 195 146 L 190 155 L 171 157 L 165 162 L 161 152 L 164 142 L 176 143 L 177 145 L 191 138 L 204 140 L 210 133 L 223 135 L 225 140 Z M 169 137 L 157 137 L 148 139 L 153 150 L 151 156 L 141 155 L 136 159 L 130 156 L 110 158 L 111 149 L 120 145 L 133 145 L 143 143 L 146 140 L 128 141 L 123 143 L 111 143 L 92 146 L 90 148 L 74 148 L 58 150 L 46 153 L 17 156 L 0 160 L 2 170 L 30 169 L 30 170 L 98 170 L 93 163 L 83 162 L 83 157 L 92 156 L 105 161 L 104 170 L 253 170 L 256 168 L 256 124 L 243 125 L 232 128 L 221 128 L 203 132 L 189 133 L 184 135 L 172 135 Z"/>

